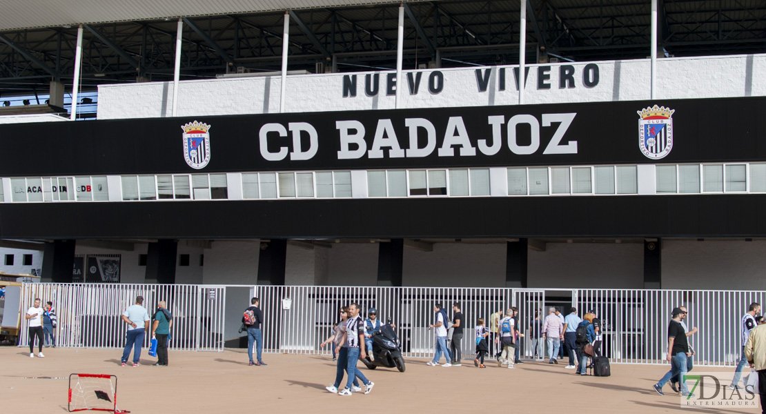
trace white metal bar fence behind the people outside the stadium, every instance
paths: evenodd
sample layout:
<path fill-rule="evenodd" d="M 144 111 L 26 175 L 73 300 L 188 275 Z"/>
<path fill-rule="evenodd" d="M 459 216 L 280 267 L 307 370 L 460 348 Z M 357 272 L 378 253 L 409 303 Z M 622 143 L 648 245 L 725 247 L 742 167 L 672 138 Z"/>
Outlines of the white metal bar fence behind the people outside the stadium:
<path fill-rule="evenodd" d="M 237 290 L 238 289 L 238 290 Z M 227 307 L 226 292 L 237 303 Z M 249 291 L 249 292 L 248 292 Z M 249 294 L 249 295 L 248 295 Z M 464 315 L 463 354 L 475 350 L 476 319 L 511 306 L 519 308 L 522 358 L 542 359 L 545 345 L 532 346 L 530 330 L 535 312 L 542 320 L 547 308 L 565 315 L 572 306 L 578 315 L 594 310 L 603 323 L 603 353 L 614 363 L 664 363 L 669 313 L 676 306 L 689 310 L 686 323 L 699 332 L 689 337 L 696 350 L 696 365 L 731 366 L 741 353 L 741 315 L 751 302 L 763 304 L 766 292 L 646 290 L 646 289 L 533 289 L 533 288 L 408 288 L 337 286 L 212 286 L 212 285 L 115 285 L 26 284 L 22 308 L 34 298 L 52 300 L 58 315 L 57 343 L 69 347 L 122 347 L 125 324 L 119 315 L 143 295 L 152 311 L 165 300 L 172 311 L 172 349 L 222 350 L 224 341 L 237 344 L 242 311 L 250 295 L 260 298 L 264 313 L 264 351 L 289 354 L 329 354 L 319 344 L 339 321 L 339 308 L 356 302 L 366 313 L 377 308 L 378 318 L 396 324 L 407 357 L 430 357 L 434 352 L 434 305 L 441 303 L 452 317 L 459 302 Z M 239 303 L 241 302 L 241 303 Z M 226 318 L 229 323 L 226 324 Z M 25 326 L 24 326 L 25 328 Z M 22 329 L 21 344 L 28 344 Z M 148 339 L 147 339 L 148 341 Z"/>

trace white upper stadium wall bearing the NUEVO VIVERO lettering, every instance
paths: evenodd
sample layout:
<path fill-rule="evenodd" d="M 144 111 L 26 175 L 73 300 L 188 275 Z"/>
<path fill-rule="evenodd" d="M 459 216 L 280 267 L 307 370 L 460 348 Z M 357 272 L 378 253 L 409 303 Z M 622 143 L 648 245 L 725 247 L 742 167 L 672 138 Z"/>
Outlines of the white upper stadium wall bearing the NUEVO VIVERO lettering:
<path fill-rule="evenodd" d="M 594 86 L 594 67 L 598 80 Z M 481 76 L 477 76 L 479 70 Z M 490 70 L 489 78 L 485 77 Z M 562 78 L 571 81 L 561 87 Z M 501 89 L 505 73 L 505 90 Z M 387 93 L 393 71 L 290 75 L 286 112 L 393 109 Z M 410 92 L 418 73 L 417 93 Z M 438 93 L 439 77 L 443 84 Z M 562 73 L 565 76 L 562 77 Z M 365 93 L 365 78 L 378 77 L 378 93 Z M 343 97 L 344 77 L 355 77 L 356 96 Z M 549 77 L 549 79 L 546 79 Z M 481 78 L 481 80 L 479 79 Z M 405 70 L 401 108 L 516 105 L 513 66 Z M 541 80 L 542 86 L 538 85 Z M 486 81 L 486 90 L 480 84 Z M 189 80 L 179 83 L 178 116 L 242 115 L 279 112 L 280 77 Z M 483 86 L 483 85 L 482 85 Z M 657 61 L 657 99 L 691 99 L 766 95 L 766 54 L 724 57 L 670 57 Z M 100 85 L 98 119 L 161 118 L 172 112 L 172 83 Z M 529 65 L 525 102 L 584 103 L 650 99 L 650 60 L 607 60 L 596 63 Z"/>

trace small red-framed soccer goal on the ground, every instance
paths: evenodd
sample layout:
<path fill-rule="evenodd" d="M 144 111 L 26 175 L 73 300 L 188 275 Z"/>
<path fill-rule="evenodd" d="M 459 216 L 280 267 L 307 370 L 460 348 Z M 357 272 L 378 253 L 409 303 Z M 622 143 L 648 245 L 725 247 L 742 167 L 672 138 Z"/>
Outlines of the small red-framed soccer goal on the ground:
<path fill-rule="evenodd" d="M 101 373 L 73 373 L 69 376 L 69 412 L 129 412 L 117 408 L 117 377 Z"/>

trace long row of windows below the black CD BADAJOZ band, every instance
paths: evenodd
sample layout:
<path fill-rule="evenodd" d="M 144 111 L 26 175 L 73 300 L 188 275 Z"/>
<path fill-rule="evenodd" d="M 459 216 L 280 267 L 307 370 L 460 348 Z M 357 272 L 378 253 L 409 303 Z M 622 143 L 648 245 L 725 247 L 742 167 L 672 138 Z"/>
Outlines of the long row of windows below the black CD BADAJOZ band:
<path fill-rule="evenodd" d="M 506 195 L 509 196 L 638 194 L 637 165 L 512 167 L 505 171 Z M 493 193 L 489 168 L 364 172 L 367 197 L 372 198 L 486 197 Z M 655 178 L 656 194 L 763 193 L 766 192 L 766 163 L 656 165 Z M 230 193 L 227 174 L 122 175 L 108 179 L 106 176 L 33 177 L 9 180 L 11 201 L 15 203 L 108 201 L 110 180 L 114 185 L 119 185 L 119 189 L 113 189 L 113 193 L 118 192 L 117 199 L 124 201 L 227 200 Z M 0 201 L 5 201 L 3 187 L 0 185 Z M 496 188 L 495 195 L 498 195 L 497 191 Z M 363 191 L 360 192 L 363 194 Z M 352 173 L 242 173 L 241 194 L 247 200 L 350 198 Z M 113 199 L 116 197 L 113 194 Z"/>

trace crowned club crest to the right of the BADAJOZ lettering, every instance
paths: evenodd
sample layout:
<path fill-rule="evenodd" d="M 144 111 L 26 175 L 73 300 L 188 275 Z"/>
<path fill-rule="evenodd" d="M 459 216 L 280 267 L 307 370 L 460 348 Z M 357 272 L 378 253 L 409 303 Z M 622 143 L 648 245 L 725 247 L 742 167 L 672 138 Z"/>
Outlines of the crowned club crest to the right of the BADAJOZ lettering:
<path fill-rule="evenodd" d="M 638 121 L 638 146 L 647 158 L 665 158 L 673 149 L 673 112 L 664 106 L 650 106 L 636 111 Z"/>

